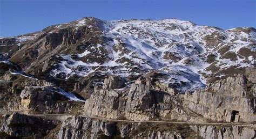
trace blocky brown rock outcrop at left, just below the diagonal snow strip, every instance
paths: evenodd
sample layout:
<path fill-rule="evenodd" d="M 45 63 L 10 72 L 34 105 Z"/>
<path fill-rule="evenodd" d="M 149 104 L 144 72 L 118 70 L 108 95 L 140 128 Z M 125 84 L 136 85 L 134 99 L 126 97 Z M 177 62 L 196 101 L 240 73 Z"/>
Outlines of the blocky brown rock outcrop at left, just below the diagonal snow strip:
<path fill-rule="evenodd" d="M 83 103 L 69 101 L 63 95 L 57 93 L 53 86 L 26 86 L 22 90 L 21 106 L 26 113 L 78 113 L 79 104 Z"/>

